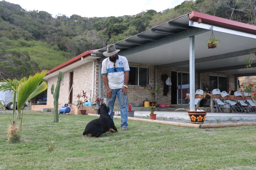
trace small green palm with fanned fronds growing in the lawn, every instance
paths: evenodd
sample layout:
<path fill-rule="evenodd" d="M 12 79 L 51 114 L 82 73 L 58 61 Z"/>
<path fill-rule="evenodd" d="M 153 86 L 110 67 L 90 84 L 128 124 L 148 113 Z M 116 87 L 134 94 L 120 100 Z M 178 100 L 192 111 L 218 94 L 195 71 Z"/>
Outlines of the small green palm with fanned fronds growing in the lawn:
<path fill-rule="evenodd" d="M 23 77 L 21 80 L 17 79 L 6 79 L 2 80 L 0 82 L 0 91 L 6 91 L 6 90 L 12 90 L 13 91 L 13 99 L 12 103 L 14 104 L 13 107 L 13 114 L 12 114 L 12 120 L 11 126 L 9 128 L 9 139 L 8 141 L 11 141 L 13 136 L 16 136 L 17 127 L 16 127 L 16 121 L 18 118 L 18 115 L 21 115 L 21 123 L 20 123 L 20 131 L 22 128 L 22 118 L 23 118 L 23 105 L 30 100 L 31 98 L 35 97 L 36 95 L 40 94 L 44 90 L 47 89 L 47 83 L 42 82 L 42 79 L 47 74 L 48 70 L 44 70 L 42 72 L 36 73 L 34 75 L 30 75 L 28 78 Z M 40 84 L 41 83 L 41 84 Z M 40 84 L 40 85 L 39 85 Z M 17 111 L 18 115 L 16 115 L 16 99 L 17 96 Z M 1 106 L 0 106 L 1 107 Z M 21 113 L 22 110 L 22 113 Z M 8 116 L 9 117 L 9 116 Z"/>

